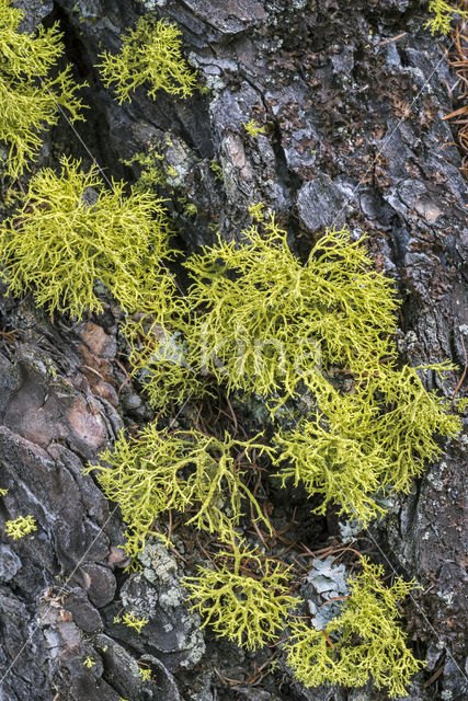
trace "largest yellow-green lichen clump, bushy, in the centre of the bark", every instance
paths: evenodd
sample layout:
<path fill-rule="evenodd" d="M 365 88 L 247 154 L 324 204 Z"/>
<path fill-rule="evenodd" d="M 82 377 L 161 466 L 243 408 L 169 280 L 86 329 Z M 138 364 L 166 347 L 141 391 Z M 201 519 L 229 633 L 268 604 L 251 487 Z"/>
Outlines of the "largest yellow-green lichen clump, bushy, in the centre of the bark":
<path fill-rule="evenodd" d="M 275 218 L 192 255 L 185 334 L 189 359 L 228 390 L 255 392 L 281 405 L 300 386 L 326 387 L 323 370 L 364 376 L 395 357 L 391 283 L 376 273 L 349 231 L 327 231 L 305 265 Z M 276 399 L 273 397 L 276 394 Z"/>

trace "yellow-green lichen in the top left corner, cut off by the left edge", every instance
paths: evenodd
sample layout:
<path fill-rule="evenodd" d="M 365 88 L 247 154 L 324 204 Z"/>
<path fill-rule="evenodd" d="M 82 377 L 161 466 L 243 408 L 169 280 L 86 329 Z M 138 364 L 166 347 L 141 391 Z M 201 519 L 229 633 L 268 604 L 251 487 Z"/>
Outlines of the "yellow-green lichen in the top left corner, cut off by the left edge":
<path fill-rule="evenodd" d="M 41 131 L 57 124 L 59 108 L 73 122 L 82 119 L 71 67 L 50 71 L 64 54 L 58 23 L 33 34 L 20 33 L 24 12 L 0 0 L 0 142 L 9 148 L 7 173 L 16 177 L 42 146 Z"/>

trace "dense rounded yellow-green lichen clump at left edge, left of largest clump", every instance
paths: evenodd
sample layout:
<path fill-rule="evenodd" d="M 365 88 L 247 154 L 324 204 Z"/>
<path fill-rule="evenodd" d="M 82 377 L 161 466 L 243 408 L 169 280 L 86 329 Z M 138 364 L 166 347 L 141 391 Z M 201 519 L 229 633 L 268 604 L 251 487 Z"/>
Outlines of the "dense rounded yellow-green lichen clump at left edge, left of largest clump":
<path fill-rule="evenodd" d="M 98 169 L 80 171 L 61 159 L 28 183 L 22 209 L 0 227 L 0 261 L 9 290 L 32 290 L 50 313 L 102 311 L 100 280 L 128 310 L 165 303 L 171 279 L 161 267 L 170 255 L 169 226 L 161 200 L 113 182 L 103 186 Z"/>

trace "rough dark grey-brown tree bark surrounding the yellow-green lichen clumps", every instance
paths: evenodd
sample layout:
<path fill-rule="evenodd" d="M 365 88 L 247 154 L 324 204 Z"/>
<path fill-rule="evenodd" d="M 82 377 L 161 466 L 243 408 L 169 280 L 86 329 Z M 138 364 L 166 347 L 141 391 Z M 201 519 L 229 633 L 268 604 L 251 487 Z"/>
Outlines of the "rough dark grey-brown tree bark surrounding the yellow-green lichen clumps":
<path fill-rule="evenodd" d="M 164 152 L 176 174 L 161 192 L 170 197 L 182 248 L 210 243 L 213 223 L 236 237 L 252 202 L 279 214 L 298 251 L 323 227 L 346 221 L 356 235 L 367 231 L 376 266 L 398 283 L 402 357 L 411 364 L 448 358 L 464 367 L 466 183 L 442 120 L 450 111 L 453 76 L 443 46 L 423 30 L 425 7 L 413 0 L 14 4 L 25 10 L 28 30 L 60 20 L 68 59 L 90 83 L 92 110 L 78 131 L 106 172 L 132 180 L 136 171 L 122 159 L 151 143 Z M 93 69 L 98 54 L 116 50 L 122 32 L 146 12 L 178 23 L 207 93 L 152 101 L 140 89 L 118 106 L 103 89 Z M 249 139 L 249 119 L 266 124 L 265 134 Z M 90 163 L 66 123 L 47 140 L 42 164 L 55 164 L 64 151 Z M 196 217 L 184 210 L 184 197 L 196 205 Z M 32 514 L 38 530 L 34 538 L 2 538 L 0 699 L 385 699 L 372 686 L 306 690 L 281 652 L 264 677 L 255 676 L 272 651 L 248 654 L 201 631 L 184 605 L 184 562 L 161 545 L 148 545 L 139 573 L 124 573 L 118 510 L 81 471 L 121 427 L 151 417 L 124 382 L 121 312 L 110 304 L 72 325 L 50 320 L 28 297 L 19 301 L 1 291 L 0 487 L 8 493 L 0 521 Z M 458 377 L 440 390 L 450 397 Z M 430 383 L 441 384 L 435 377 Z M 389 574 L 415 576 L 424 587 L 406 607 L 403 623 L 427 659 L 409 692 L 414 700 L 467 693 L 466 448 L 464 437 L 446 446 L 444 459 L 361 540 Z M 285 522 L 289 497 L 303 518 L 297 533 L 311 551 L 336 539 L 333 516 L 312 519 L 300 494 L 288 495 L 287 505 L 277 496 Z M 140 635 L 114 622 L 124 606 L 149 619 Z M 87 656 L 95 663 L 90 668 Z M 151 682 L 141 679 L 137 660 L 151 669 Z"/>

